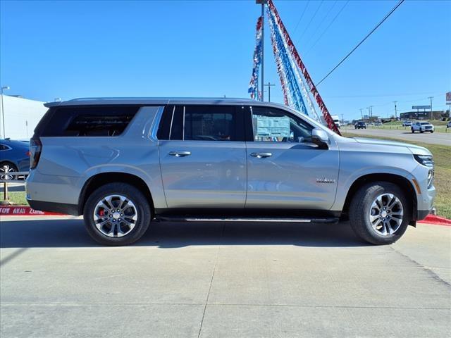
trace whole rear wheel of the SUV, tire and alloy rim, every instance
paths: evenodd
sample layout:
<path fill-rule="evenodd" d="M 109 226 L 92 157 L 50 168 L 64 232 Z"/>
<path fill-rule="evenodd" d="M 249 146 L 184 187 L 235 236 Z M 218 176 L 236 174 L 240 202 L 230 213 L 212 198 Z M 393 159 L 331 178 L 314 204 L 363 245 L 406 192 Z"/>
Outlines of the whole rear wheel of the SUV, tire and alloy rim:
<path fill-rule="evenodd" d="M 149 227 L 152 212 L 139 189 L 109 183 L 96 189 L 85 203 L 85 227 L 98 243 L 111 246 L 136 242 Z"/>

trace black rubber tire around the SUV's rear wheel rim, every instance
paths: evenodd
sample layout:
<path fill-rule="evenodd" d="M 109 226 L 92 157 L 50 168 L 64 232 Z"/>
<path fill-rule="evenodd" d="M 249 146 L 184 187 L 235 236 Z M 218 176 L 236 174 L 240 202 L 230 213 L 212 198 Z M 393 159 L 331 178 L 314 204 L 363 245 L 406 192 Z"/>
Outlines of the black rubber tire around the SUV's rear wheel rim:
<path fill-rule="evenodd" d="M 137 212 L 135 227 L 133 227 L 132 230 L 123 237 L 109 237 L 106 234 L 103 234 L 99 229 L 97 229 L 94 221 L 93 215 L 97 203 L 105 196 L 114 194 L 121 194 L 127 199 L 130 199 Z M 135 243 L 142 237 L 142 235 L 149 228 L 150 221 L 152 220 L 152 211 L 149 206 L 149 201 L 147 201 L 147 198 L 144 194 L 142 194 L 142 192 L 140 192 L 139 189 L 130 184 L 116 182 L 105 184 L 94 190 L 85 203 L 83 218 L 85 220 L 86 230 L 94 241 L 103 245 L 122 246 Z"/>

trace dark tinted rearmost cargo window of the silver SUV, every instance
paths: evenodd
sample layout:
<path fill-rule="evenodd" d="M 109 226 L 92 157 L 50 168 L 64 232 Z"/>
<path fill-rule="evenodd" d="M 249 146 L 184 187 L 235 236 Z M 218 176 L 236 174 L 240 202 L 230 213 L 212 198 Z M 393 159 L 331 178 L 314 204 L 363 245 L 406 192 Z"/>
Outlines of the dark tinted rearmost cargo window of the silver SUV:
<path fill-rule="evenodd" d="M 37 125 L 42 137 L 118 136 L 139 106 L 70 106 L 51 108 Z"/>

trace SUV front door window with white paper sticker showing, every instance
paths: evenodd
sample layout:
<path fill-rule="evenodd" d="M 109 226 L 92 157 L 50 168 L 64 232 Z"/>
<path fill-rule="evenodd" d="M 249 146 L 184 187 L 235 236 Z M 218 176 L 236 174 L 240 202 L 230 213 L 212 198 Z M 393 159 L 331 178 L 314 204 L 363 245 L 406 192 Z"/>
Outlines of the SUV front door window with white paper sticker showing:
<path fill-rule="evenodd" d="M 288 111 L 251 107 L 254 141 L 311 142 L 313 127 Z"/>

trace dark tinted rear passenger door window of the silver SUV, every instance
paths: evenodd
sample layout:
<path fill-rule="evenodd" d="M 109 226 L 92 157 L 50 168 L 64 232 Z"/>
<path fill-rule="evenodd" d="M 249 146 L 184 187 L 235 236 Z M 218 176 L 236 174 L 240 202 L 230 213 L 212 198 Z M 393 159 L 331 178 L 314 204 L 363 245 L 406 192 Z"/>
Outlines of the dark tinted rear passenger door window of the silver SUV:
<path fill-rule="evenodd" d="M 159 139 L 185 141 L 244 141 L 244 115 L 235 106 L 168 106 Z"/>

